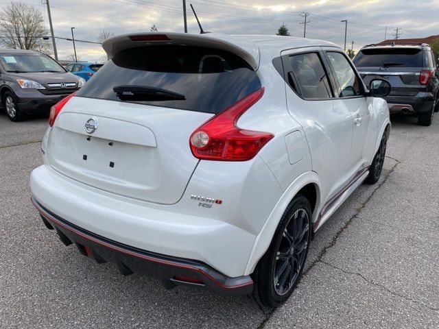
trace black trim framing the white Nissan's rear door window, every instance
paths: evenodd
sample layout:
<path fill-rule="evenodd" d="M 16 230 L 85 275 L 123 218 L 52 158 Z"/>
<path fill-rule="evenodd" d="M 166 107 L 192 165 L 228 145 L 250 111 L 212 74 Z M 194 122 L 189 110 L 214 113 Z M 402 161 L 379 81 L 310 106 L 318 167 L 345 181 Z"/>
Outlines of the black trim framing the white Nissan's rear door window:
<path fill-rule="evenodd" d="M 305 98 L 302 96 L 302 91 L 300 90 L 300 85 L 297 82 L 296 76 L 294 75 L 294 71 L 293 68 L 291 67 L 291 65 L 289 64 L 289 58 L 292 56 L 297 56 L 297 55 L 305 55 L 307 53 L 316 53 L 318 58 L 320 59 L 320 64 L 322 64 L 322 68 L 324 73 L 327 75 L 327 79 L 328 79 L 328 83 L 329 83 L 329 88 L 331 89 L 331 97 L 323 97 L 323 98 Z M 329 74 L 328 68 L 327 68 L 327 64 L 324 62 L 323 58 L 322 58 L 322 50 L 320 49 L 313 49 L 313 50 L 309 50 L 309 49 L 304 49 L 303 51 L 298 51 L 298 52 L 294 52 L 294 53 L 287 53 L 285 55 L 282 56 L 282 63 L 283 63 L 283 74 L 284 74 L 284 80 L 285 83 L 289 86 L 289 88 L 291 88 L 291 90 L 293 90 L 293 92 L 298 95 L 298 97 L 300 97 L 301 99 L 303 99 L 304 101 L 329 101 L 329 100 L 333 100 L 336 97 L 335 95 L 335 89 L 334 89 L 334 82 L 333 82 L 333 77 L 332 75 Z M 291 86 L 289 84 L 289 73 L 292 73 L 292 77 L 294 79 L 294 84 L 297 86 L 298 91 L 294 90 L 293 86 Z"/>

